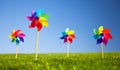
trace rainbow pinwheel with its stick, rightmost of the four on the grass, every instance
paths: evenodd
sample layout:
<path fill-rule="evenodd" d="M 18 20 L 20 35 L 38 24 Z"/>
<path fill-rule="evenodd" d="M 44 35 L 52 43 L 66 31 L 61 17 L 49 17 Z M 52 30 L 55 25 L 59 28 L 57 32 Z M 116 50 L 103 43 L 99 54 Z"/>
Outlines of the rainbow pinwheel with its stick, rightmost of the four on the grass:
<path fill-rule="evenodd" d="M 110 29 L 104 29 L 103 26 L 100 26 L 98 30 L 94 29 L 94 38 L 97 40 L 97 44 L 100 44 L 102 49 L 102 58 L 104 58 L 103 53 L 103 44 L 106 46 L 109 39 L 112 39 L 110 34 Z"/>

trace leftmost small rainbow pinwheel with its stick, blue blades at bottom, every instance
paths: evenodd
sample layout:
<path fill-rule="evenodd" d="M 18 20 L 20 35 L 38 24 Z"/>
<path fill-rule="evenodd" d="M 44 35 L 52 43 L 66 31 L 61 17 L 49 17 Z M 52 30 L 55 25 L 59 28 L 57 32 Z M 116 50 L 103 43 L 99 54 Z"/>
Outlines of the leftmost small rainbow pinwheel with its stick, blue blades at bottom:
<path fill-rule="evenodd" d="M 11 42 L 16 42 L 16 45 L 19 45 L 20 42 L 24 42 L 25 34 L 21 30 L 13 30 L 12 34 L 9 37 L 12 39 Z M 16 58 L 18 53 L 18 46 L 16 46 Z"/>

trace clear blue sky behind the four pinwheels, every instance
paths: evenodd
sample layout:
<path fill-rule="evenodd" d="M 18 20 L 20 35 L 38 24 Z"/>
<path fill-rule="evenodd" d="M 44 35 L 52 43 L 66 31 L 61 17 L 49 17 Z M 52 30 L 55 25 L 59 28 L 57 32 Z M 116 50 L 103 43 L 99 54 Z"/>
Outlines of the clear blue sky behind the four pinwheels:
<path fill-rule="evenodd" d="M 15 43 L 8 37 L 13 29 L 26 34 L 19 44 L 19 53 L 34 53 L 36 29 L 30 29 L 26 16 L 32 10 L 44 9 L 49 14 L 49 27 L 39 33 L 39 53 L 66 52 L 66 44 L 59 39 L 67 27 L 75 30 L 76 39 L 70 52 L 100 52 L 93 38 L 93 29 L 103 25 L 113 36 L 106 52 L 120 52 L 120 0 L 0 0 L 0 53 L 15 53 Z"/>

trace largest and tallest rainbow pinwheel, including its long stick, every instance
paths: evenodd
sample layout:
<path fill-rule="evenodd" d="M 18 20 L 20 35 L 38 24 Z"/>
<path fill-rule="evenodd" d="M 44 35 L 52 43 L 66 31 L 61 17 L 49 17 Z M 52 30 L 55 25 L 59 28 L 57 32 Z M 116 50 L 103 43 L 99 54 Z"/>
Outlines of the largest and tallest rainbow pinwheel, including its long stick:
<path fill-rule="evenodd" d="M 42 26 L 48 27 L 48 21 L 47 19 L 49 16 L 44 13 L 44 10 L 38 10 L 38 11 L 32 11 L 31 16 L 27 16 L 27 19 L 31 21 L 31 24 L 29 25 L 29 28 L 37 28 L 36 33 L 36 57 L 35 60 L 37 60 L 37 53 L 38 53 L 38 33 L 42 29 Z"/>

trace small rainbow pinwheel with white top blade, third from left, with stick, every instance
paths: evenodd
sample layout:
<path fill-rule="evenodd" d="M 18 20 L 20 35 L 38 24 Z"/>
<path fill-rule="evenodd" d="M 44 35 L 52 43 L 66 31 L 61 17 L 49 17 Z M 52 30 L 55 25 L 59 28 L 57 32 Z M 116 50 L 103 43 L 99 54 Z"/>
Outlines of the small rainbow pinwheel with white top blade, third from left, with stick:
<path fill-rule="evenodd" d="M 67 57 L 69 57 L 69 43 L 72 43 L 73 39 L 76 38 L 74 35 L 74 30 L 69 30 L 66 28 L 65 32 L 62 32 L 62 37 L 60 39 L 64 40 L 64 43 L 67 43 Z"/>

